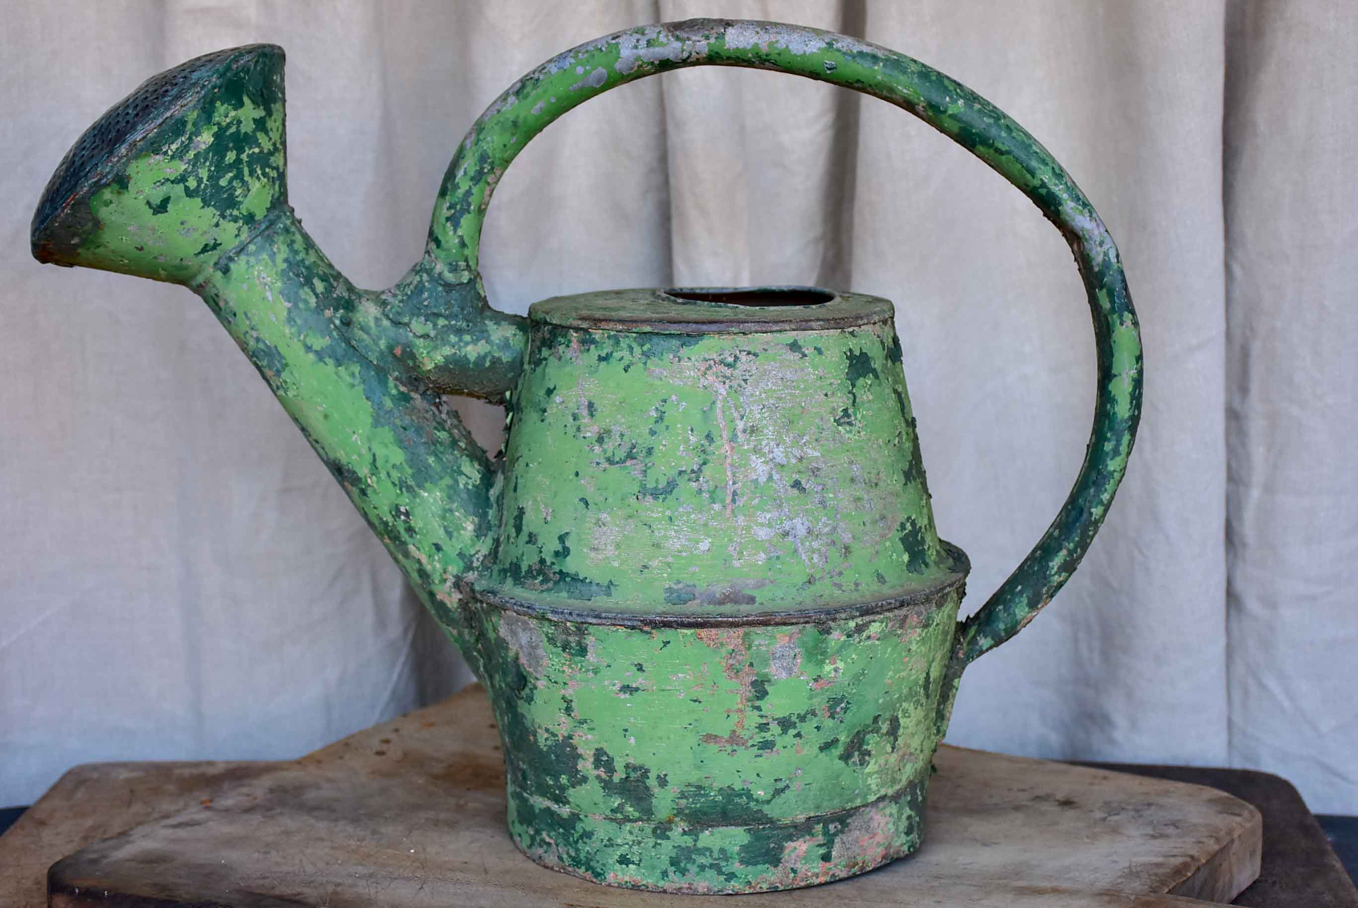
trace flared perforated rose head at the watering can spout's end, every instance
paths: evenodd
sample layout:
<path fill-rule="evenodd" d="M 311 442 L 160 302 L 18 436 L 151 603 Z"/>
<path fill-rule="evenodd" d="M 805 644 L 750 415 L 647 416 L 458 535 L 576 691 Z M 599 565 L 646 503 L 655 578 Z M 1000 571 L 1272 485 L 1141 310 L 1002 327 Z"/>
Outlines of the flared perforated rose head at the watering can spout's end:
<path fill-rule="evenodd" d="M 219 50 L 152 76 L 84 132 L 34 212 L 33 255 L 189 284 L 287 191 L 282 49 Z"/>

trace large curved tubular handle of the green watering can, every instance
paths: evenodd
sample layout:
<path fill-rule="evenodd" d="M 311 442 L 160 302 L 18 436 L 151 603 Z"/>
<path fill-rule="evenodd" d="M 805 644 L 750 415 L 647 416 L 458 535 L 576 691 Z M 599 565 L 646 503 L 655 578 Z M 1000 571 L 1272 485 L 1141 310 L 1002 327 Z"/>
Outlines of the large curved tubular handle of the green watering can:
<path fill-rule="evenodd" d="M 1019 632 L 1076 570 L 1127 467 L 1141 418 L 1141 333 L 1118 248 L 1080 187 L 1023 126 L 918 60 L 828 31 L 693 19 L 619 31 L 554 57 L 509 87 L 473 125 L 444 175 L 425 261 L 449 292 L 485 295 L 481 225 L 504 168 L 557 117 L 634 79 L 695 65 L 752 67 L 828 81 L 914 114 L 1017 186 L 1070 243 L 1099 353 L 1093 432 L 1074 489 L 1047 532 L 959 628 L 953 669 Z M 418 266 L 417 266 L 418 267 Z"/>

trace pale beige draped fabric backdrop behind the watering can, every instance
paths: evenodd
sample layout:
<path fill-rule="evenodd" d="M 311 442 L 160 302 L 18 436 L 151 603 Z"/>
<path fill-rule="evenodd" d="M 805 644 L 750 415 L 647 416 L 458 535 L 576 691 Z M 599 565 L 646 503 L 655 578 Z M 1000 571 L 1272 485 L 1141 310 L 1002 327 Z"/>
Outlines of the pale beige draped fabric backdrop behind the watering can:
<path fill-rule="evenodd" d="M 0 803 L 87 760 L 284 757 L 469 675 L 206 308 L 39 267 L 27 223 L 110 103 L 187 57 L 288 52 L 292 202 L 391 284 L 463 129 L 595 35 L 691 15 L 864 35 L 960 77 L 1118 239 L 1146 409 L 1066 592 L 968 670 L 949 740 L 1256 767 L 1358 813 L 1358 30 L 1347 0 L 100 3 L 0 46 Z M 611 92 L 509 170 L 492 299 L 818 282 L 898 304 L 944 535 L 975 607 L 1073 480 L 1089 316 L 1055 231 L 885 105 L 686 71 Z M 482 437 L 498 415 L 473 411 Z"/>

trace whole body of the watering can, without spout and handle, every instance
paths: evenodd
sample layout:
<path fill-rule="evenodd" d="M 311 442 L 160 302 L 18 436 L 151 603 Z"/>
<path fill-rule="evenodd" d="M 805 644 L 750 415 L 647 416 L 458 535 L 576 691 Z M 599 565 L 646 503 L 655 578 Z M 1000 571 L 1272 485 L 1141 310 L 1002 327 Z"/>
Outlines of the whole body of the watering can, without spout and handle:
<path fill-rule="evenodd" d="M 967 562 L 934 531 L 891 304 L 546 300 L 511 410 L 473 586 L 520 847 L 693 892 L 914 850 Z"/>

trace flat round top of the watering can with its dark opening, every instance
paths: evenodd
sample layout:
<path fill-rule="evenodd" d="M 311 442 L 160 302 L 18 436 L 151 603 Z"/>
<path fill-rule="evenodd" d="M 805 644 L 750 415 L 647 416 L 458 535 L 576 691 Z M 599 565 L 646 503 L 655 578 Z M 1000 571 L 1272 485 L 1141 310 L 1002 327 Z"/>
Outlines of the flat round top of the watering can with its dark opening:
<path fill-rule="evenodd" d="M 536 323 L 603 331 L 763 334 L 888 322 L 891 300 L 819 286 L 693 286 L 600 290 L 534 303 Z"/>

